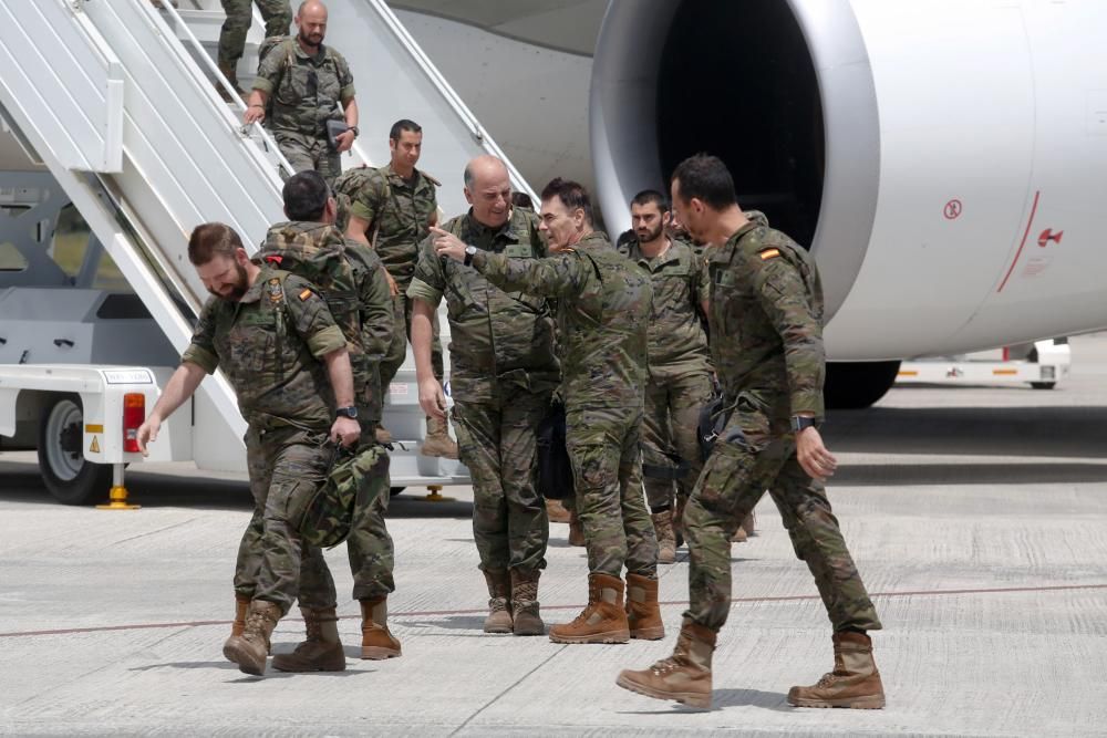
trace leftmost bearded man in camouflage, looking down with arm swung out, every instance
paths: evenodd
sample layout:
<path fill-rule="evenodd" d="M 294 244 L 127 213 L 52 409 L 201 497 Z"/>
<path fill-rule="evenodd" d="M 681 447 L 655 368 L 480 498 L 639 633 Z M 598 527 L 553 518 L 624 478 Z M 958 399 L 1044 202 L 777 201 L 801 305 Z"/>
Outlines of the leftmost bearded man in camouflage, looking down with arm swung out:
<path fill-rule="evenodd" d="M 301 542 L 297 526 L 330 469 L 334 451 L 328 441 L 352 446 L 360 436 L 349 416 L 353 374 L 342 330 L 310 282 L 251 262 L 238 235 L 223 224 L 198 226 L 188 258 L 215 297 L 204 305 L 180 367 L 138 429 L 138 445 L 145 449 L 156 439 L 162 422 L 205 374 L 224 370 L 249 426 L 250 529 L 260 531 L 262 552 L 249 572 L 254 591 L 245 630 L 227 642 L 224 654 L 241 671 L 262 674 L 269 635 L 299 593 L 302 559 L 321 561 L 318 549 Z M 329 572 L 323 580 L 333 601 Z"/>

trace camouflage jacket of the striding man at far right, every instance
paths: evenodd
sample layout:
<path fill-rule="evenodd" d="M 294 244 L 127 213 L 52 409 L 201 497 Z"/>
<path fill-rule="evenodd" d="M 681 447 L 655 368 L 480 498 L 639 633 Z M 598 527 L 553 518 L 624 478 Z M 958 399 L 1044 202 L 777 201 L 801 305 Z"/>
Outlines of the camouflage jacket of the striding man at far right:
<path fill-rule="evenodd" d="M 806 250 L 761 214 L 707 249 L 711 349 L 727 399 L 745 394 L 774 419 L 823 417 L 823 287 Z"/>

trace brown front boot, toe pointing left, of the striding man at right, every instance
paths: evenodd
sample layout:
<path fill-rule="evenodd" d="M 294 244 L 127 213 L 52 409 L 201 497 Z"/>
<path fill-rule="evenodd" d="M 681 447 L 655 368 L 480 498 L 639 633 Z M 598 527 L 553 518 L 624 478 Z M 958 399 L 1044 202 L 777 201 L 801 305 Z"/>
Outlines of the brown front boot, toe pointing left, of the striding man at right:
<path fill-rule="evenodd" d="M 711 654 L 714 651 L 715 632 L 685 619 L 672 656 L 641 672 L 625 669 L 615 684 L 646 697 L 710 708 Z"/>

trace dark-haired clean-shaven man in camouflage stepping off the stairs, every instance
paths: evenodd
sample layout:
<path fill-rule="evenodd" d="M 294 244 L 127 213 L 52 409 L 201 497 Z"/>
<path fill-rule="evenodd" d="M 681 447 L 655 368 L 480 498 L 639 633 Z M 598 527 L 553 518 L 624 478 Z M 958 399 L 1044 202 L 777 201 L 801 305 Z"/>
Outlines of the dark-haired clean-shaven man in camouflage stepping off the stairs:
<path fill-rule="evenodd" d="M 389 353 L 381 364 L 381 385 L 387 387 L 407 355 L 412 331 L 413 302 L 407 288 L 418 261 L 418 245 L 427 228 L 438 221 L 437 179 L 415 168 L 423 150 L 423 128 L 414 121 L 396 121 L 389 132 L 391 162 L 379 169 L 359 167 L 342 174 L 334 188 L 350 199 L 346 235 L 374 249 L 387 269 L 389 285 L 395 295 L 395 330 Z M 442 342 L 438 315 L 431 323 L 434 336 L 431 362 L 434 376 L 442 383 Z M 383 428 L 379 438 L 389 443 Z M 426 418 L 426 438 L 420 448 L 424 456 L 457 458 L 457 444 L 449 437 L 446 422 L 433 415 Z"/>

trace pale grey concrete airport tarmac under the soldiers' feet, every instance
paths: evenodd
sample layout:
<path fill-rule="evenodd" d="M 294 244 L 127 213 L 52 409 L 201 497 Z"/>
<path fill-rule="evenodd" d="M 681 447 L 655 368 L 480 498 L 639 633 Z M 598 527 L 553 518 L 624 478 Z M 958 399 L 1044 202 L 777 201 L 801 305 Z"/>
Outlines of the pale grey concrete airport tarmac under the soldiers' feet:
<path fill-rule="evenodd" d="M 345 553 L 346 671 L 248 677 L 223 659 L 249 493 L 164 465 L 128 475 L 136 512 L 50 501 L 33 456 L 0 454 L 0 731 L 12 735 L 973 735 L 1107 732 L 1107 334 L 1072 341 L 1053 391 L 893 388 L 834 413 L 830 499 L 883 620 L 888 706 L 801 710 L 794 684 L 831 666 L 810 575 L 772 502 L 733 548 L 735 600 L 715 652 L 714 708 L 624 692 L 621 668 L 666 655 L 687 600 L 686 552 L 661 567 L 662 642 L 558 645 L 486 635 L 472 492 L 393 501 L 404 655 L 358 658 Z M 548 623 L 587 599 L 582 549 L 552 526 Z M 297 613 L 275 633 L 291 649 Z"/>

